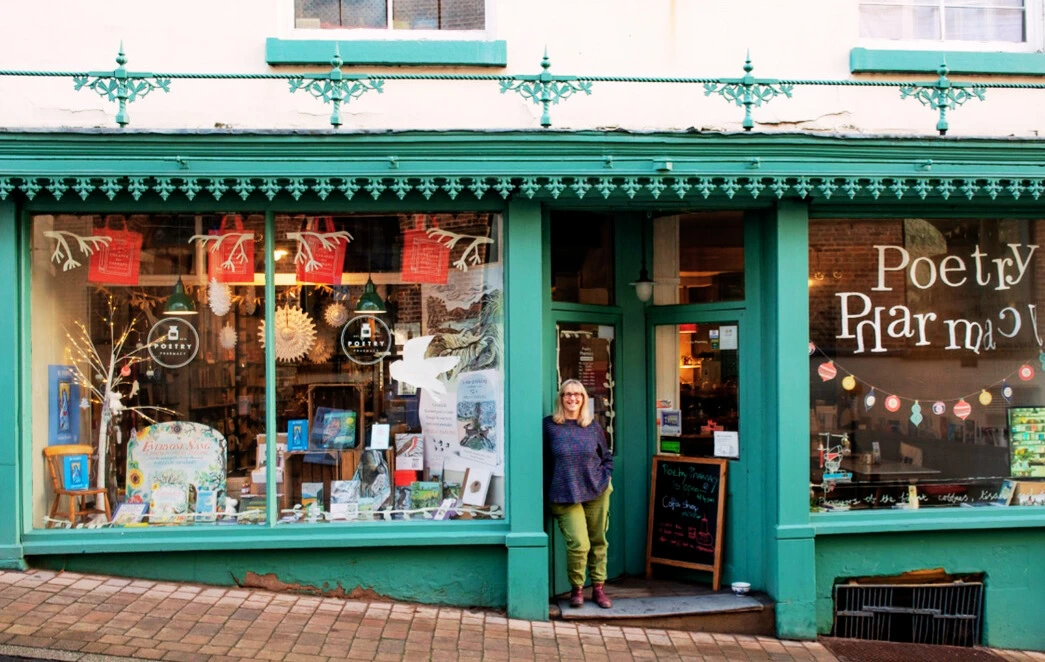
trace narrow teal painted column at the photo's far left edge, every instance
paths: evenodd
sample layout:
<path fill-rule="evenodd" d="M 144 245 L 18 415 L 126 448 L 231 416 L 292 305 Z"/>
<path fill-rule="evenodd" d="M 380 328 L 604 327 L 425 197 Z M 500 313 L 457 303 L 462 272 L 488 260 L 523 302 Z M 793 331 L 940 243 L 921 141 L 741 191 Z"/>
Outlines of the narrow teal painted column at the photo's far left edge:
<path fill-rule="evenodd" d="M 24 569 L 22 557 L 21 519 L 22 483 L 19 480 L 19 456 L 23 435 L 30 434 L 22 427 L 19 380 L 22 352 L 20 335 L 28 328 L 21 306 L 22 278 L 19 270 L 19 218 L 11 201 L 0 202 L 0 310 L 7 311 L 8 323 L 0 324 L 0 347 L 7 349 L 8 361 L 0 362 L 0 393 L 7 393 L 0 405 L 0 430 L 7 434 L 0 438 L 0 485 L 6 485 L 6 497 L 0 502 L 0 569 Z M 26 335 L 25 338 L 28 338 Z"/>

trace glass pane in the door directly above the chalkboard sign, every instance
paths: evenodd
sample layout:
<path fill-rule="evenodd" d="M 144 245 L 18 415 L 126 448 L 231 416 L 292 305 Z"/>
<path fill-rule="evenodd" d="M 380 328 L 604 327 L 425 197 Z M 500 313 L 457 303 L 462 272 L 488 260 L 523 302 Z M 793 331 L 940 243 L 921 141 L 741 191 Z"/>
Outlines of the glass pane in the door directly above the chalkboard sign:
<path fill-rule="evenodd" d="M 739 457 L 739 329 L 737 321 L 653 327 L 658 452 Z"/>

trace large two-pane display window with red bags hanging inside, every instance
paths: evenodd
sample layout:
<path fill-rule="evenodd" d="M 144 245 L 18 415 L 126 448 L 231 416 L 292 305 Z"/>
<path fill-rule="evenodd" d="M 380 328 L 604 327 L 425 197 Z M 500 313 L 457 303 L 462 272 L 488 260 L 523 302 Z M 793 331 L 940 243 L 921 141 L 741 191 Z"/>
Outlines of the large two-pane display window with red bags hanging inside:
<path fill-rule="evenodd" d="M 271 319 L 261 214 L 31 230 L 33 527 L 504 517 L 500 215 L 278 214 Z"/>

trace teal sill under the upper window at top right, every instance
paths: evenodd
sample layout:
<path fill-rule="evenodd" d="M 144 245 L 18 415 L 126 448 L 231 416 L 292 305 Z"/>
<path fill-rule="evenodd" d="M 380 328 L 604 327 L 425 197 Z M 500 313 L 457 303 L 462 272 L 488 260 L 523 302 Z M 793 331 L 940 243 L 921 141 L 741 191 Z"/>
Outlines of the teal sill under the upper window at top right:
<path fill-rule="evenodd" d="M 950 73 L 1045 76 L 1045 53 L 876 48 L 850 51 L 850 71 L 853 73 L 933 75 L 943 63 L 947 63 Z"/>

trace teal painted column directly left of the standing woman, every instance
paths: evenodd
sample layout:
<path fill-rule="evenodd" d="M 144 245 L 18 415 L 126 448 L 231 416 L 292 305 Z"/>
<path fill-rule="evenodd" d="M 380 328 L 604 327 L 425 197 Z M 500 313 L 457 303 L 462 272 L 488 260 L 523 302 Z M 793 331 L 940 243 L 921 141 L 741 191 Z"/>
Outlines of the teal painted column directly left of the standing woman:
<path fill-rule="evenodd" d="M 541 324 L 543 261 L 540 204 L 508 205 L 506 363 L 508 417 L 508 615 L 548 620 L 544 533 Z"/>

